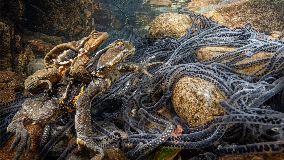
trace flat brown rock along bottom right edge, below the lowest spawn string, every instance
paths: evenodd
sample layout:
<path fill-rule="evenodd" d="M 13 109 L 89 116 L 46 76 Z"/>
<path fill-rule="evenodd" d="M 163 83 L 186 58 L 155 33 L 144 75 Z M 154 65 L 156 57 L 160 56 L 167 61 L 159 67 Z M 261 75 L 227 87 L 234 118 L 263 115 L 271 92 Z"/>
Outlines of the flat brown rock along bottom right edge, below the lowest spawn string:
<path fill-rule="evenodd" d="M 277 154 L 250 154 L 250 155 L 226 155 L 220 157 L 219 160 L 283 160 L 284 153 Z"/>

